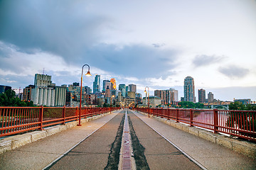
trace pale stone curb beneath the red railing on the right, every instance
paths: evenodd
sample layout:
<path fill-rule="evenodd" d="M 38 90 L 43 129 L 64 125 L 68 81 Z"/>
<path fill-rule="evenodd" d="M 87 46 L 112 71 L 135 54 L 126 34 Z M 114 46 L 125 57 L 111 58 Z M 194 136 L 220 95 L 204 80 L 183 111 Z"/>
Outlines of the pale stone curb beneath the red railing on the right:
<path fill-rule="evenodd" d="M 142 112 L 139 112 L 139 113 L 148 115 L 147 113 L 142 113 Z M 150 115 L 150 117 L 154 118 L 156 120 L 159 120 L 163 123 L 166 123 L 167 125 L 171 125 L 172 127 L 177 128 L 179 130 L 188 132 L 191 135 L 196 135 L 198 137 L 203 138 L 204 140 L 208 140 L 210 142 L 221 145 L 223 147 L 231 149 L 240 154 L 244 154 L 247 157 L 251 157 L 252 159 L 256 159 L 256 144 L 255 143 L 244 141 L 244 140 L 232 139 L 225 135 L 213 134 L 212 132 L 209 132 L 207 130 L 190 127 L 189 125 L 182 124 L 182 123 L 176 123 L 176 121 L 174 121 L 174 120 L 167 120 L 166 118 L 161 118 L 161 117 L 157 117 L 154 115 Z"/>

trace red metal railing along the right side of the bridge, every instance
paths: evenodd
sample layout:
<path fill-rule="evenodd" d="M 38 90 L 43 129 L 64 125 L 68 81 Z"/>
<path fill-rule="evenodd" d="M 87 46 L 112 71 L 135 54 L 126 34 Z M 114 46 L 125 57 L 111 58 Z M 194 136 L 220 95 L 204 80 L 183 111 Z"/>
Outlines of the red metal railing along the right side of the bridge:
<path fill-rule="evenodd" d="M 137 111 L 176 120 L 228 135 L 256 141 L 256 111 L 219 111 L 166 108 L 134 108 Z"/>

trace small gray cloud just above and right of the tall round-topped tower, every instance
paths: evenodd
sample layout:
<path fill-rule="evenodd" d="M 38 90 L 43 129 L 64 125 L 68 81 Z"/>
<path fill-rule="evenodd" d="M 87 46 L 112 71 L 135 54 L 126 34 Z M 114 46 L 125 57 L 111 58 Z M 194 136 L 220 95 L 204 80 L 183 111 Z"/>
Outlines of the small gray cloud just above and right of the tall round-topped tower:
<path fill-rule="evenodd" d="M 224 58 L 223 56 L 219 57 L 215 55 L 197 55 L 192 62 L 195 67 L 202 67 L 221 62 Z"/>

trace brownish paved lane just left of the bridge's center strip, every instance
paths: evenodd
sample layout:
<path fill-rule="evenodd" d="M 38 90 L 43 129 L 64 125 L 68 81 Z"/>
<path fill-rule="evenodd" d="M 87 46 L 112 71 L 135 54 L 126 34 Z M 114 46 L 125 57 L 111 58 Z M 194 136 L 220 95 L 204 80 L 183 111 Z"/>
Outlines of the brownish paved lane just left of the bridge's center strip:
<path fill-rule="evenodd" d="M 114 116 L 110 121 L 94 132 L 90 137 L 74 147 L 48 169 L 117 169 L 119 160 L 114 162 L 112 143 L 122 132 L 117 134 L 124 112 Z M 121 141 L 121 140 L 120 140 Z M 119 158 L 119 148 L 117 158 Z M 110 158 L 111 157 L 111 158 Z M 112 162 L 108 162 L 111 159 Z M 106 167 L 106 168 L 105 168 Z"/>

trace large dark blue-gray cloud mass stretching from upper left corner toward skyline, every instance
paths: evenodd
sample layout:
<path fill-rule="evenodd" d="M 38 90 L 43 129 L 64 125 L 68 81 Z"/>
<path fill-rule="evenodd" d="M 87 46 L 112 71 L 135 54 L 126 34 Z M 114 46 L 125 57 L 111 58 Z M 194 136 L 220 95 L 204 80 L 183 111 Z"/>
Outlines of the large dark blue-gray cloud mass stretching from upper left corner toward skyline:
<path fill-rule="evenodd" d="M 80 5 L 81 1 L 75 2 L 1 1 L 0 40 L 28 55 L 38 51 L 53 53 L 68 64 L 88 63 L 130 77 L 159 76 L 176 67 L 169 63 L 174 63 L 177 51 L 159 48 L 164 44 L 120 48 L 101 43 L 102 31 L 112 24 L 111 19 L 96 16 Z M 5 65 L 9 66 L 5 69 L 14 68 Z"/>

